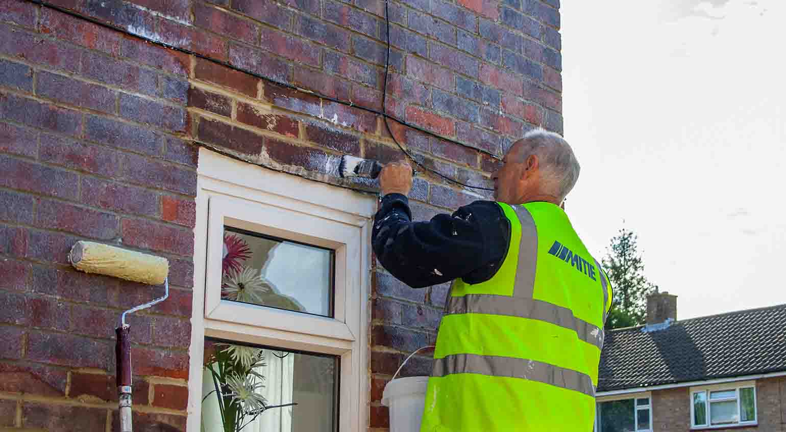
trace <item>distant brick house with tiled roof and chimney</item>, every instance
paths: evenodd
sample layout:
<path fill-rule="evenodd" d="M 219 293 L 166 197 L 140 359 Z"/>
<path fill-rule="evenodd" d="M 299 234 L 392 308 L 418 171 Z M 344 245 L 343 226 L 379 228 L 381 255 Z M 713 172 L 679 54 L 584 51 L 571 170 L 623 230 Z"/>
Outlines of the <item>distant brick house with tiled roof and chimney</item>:
<path fill-rule="evenodd" d="M 606 332 L 597 432 L 786 430 L 786 304 L 678 321 L 648 297 L 647 323 Z"/>

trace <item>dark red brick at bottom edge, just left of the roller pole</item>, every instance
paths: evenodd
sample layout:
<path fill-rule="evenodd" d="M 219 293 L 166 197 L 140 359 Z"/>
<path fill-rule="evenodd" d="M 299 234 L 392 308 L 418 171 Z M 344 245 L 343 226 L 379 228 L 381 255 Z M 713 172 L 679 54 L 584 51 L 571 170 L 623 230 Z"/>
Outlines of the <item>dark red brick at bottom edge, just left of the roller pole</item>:
<path fill-rule="evenodd" d="M 106 408 L 46 405 L 25 401 L 22 405 L 24 427 L 46 430 L 105 430 Z"/>

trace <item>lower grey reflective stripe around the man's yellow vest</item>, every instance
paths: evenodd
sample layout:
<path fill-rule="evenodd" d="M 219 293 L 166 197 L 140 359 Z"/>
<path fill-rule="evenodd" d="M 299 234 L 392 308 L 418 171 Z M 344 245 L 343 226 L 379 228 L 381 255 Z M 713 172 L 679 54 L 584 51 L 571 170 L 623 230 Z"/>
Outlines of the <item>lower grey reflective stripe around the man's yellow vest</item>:
<path fill-rule="evenodd" d="M 453 354 L 434 360 L 432 376 L 448 376 L 458 373 L 529 379 L 538 383 L 578 391 L 588 396 L 595 396 L 595 389 L 589 375 L 573 369 L 549 365 L 542 361 L 478 354 Z"/>

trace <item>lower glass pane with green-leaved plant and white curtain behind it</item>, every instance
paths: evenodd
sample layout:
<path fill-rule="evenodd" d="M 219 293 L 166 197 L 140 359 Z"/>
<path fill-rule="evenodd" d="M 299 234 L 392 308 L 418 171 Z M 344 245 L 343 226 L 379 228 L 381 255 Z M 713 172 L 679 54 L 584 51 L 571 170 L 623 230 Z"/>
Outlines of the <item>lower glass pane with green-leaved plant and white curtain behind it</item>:
<path fill-rule="evenodd" d="M 337 357 L 206 339 L 204 358 L 203 432 L 336 431 Z"/>

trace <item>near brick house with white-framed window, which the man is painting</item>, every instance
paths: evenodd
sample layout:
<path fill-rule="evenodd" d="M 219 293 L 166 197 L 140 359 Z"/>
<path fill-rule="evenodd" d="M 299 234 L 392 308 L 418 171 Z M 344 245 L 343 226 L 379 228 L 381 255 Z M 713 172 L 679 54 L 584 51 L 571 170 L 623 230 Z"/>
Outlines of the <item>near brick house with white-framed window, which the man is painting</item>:
<path fill-rule="evenodd" d="M 163 287 L 75 271 L 92 240 L 171 263 L 169 298 L 129 317 L 134 430 L 222 430 L 215 390 L 239 383 L 247 408 L 286 405 L 245 430 L 387 430 L 384 385 L 434 342 L 447 286 L 376 265 L 375 183 L 337 173 L 402 157 L 361 109 L 382 109 L 386 9 L 385 108 L 418 128 L 393 136 L 490 187 L 513 140 L 562 132 L 559 8 L 0 0 L 0 429 L 116 430 L 114 329 Z M 489 197 L 420 171 L 417 220 Z"/>

